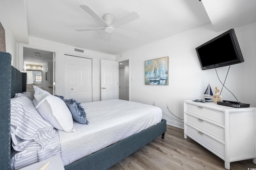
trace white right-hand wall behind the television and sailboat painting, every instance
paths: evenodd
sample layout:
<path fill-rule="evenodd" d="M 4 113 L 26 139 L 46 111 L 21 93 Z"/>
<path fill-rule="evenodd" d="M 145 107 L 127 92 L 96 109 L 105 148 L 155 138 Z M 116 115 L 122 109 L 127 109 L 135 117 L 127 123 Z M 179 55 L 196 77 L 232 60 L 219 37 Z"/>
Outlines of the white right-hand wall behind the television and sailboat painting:
<path fill-rule="evenodd" d="M 230 66 L 225 86 L 240 102 L 256 107 L 256 23 L 234 29 L 245 62 Z M 150 105 L 156 102 L 168 124 L 183 127 L 183 122 L 170 111 L 183 119 L 184 100 L 202 99 L 209 80 L 213 93 L 215 86 L 222 88 L 215 69 L 201 69 L 195 48 L 223 32 L 215 32 L 207 24 L 123 53 L 122 59 L 130 58 L 130 100 Z M 120 60 L 119 56 L 116 61 Z M 169 85 L 144 85 L 144 62 L 166 56 L 169 57 Z M 216 70 L 224 82 L 228 66 Z M 226 89 L 221 96 L 224 100 L 236 100 Z"/>

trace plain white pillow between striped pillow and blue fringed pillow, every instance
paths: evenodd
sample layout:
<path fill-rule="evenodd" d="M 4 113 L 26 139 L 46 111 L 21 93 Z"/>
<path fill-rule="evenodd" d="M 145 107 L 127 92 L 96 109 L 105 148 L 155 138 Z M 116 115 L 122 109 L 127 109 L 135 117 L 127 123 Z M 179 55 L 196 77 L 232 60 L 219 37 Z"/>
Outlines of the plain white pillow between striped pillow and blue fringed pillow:
<path fill-rule="evenodd" d="M 40 115 L 56 129 L 64 130 L 66 132 L 75 131 L 72 114 L 63 100 L 56 96 L 52 96 L 50 93 L 47 94 L 48 92 L 42 92 L 45 90 L 38 87 L 34 89 L 36 90 L 33 103 Z M 44 96 L 44 98 L 42 98 L 40 94 Z"/>

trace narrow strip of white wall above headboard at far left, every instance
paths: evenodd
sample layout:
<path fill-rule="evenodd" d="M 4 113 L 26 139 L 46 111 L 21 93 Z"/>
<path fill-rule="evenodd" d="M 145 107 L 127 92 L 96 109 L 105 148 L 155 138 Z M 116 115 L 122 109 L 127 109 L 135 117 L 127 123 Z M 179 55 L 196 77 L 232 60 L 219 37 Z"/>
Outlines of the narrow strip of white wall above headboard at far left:
<path fill-rule="evenodd" d="M 6 16 L 4 14 L 3 5 L 0 2 L 0 22 L 2 23 L 5 31 L 5 46 L 6 46 L 6 53 L 10 53 L 12 55 L 12 65 L 17 68 L 18 66 L 18 57 L 17 57 L 17 50 L 16 50 L 16 40 L 12 31 L 10 30 L 8 20 L 6 20 Z"/>

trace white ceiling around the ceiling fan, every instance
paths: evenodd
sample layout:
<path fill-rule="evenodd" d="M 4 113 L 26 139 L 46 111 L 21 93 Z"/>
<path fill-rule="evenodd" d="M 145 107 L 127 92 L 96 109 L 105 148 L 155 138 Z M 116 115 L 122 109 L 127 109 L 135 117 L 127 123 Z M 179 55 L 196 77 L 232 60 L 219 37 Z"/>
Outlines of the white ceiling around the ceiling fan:
<path fill-rule="evenodd" d="M 131 49 L 212 23 L 222 31 L 256 22 L 255 0 L 2 0 L 10 29 L 19 43 L 37 37 L 74 47 L 119 55 Z M 104 30 L 80 5 L 88 5 L 100 17 L 111 13 L 116 20 L 135 11 L 140 18 L 120 28 L 138 33 L 136 38 L 112 33 L 104 41 Z"/>

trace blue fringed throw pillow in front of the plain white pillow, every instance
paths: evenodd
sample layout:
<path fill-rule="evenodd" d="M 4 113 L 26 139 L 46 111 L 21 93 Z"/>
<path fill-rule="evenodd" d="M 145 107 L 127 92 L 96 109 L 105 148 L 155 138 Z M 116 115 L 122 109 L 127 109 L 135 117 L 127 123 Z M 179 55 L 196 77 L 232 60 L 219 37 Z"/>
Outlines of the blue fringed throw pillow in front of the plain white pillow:
<path fill-rule="evenodd" d="M 84 108 L 80 105 L 80 103 L 74 99 L 63 100 L 68 106 L 70 112 L 72 113 L 72 117 L 75 121 L 80 124 L 88 125 L 89 121 L 86 118 L 86 113 Z"/>

